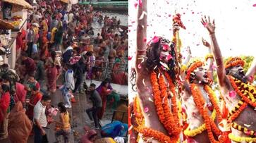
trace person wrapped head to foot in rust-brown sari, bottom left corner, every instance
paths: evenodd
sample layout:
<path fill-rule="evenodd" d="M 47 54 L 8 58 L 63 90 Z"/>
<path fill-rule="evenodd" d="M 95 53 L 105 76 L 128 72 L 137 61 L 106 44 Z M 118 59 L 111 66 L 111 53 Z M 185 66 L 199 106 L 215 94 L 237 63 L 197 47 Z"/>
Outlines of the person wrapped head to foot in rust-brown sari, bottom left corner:
<path fill-rule="evenodd" d="M 28 119 L 20 101 L 11 110 L 8 123 L 8 135 L 12 143 L 26 143 L 32 130 L 32 121 Z"/>

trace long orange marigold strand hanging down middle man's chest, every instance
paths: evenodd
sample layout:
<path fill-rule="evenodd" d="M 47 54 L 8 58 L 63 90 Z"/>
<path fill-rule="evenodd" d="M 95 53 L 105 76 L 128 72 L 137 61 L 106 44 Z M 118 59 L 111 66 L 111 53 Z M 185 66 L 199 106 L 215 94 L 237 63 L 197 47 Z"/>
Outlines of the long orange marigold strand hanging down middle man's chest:
<path fill-rule="evenodd" d="M 208 115 L 208 111 L 203 106 L 205 104 L 205 100 L 203 99 L 202 94 L 198 92 L 198 87 L 196 86 L 196 84 L 191 84 L 191 92 L 192 92 L 193 99 L 195 101 L 195 105 L 197 106 L 202 117 L 205 120 L 205 127 L 207 129 L 207 134 L 210 142 L 219 143 L 219 141 L 214 139 L 214 135 L 212 133 L 212 128 L 211 128 L 211 119 Z"/>

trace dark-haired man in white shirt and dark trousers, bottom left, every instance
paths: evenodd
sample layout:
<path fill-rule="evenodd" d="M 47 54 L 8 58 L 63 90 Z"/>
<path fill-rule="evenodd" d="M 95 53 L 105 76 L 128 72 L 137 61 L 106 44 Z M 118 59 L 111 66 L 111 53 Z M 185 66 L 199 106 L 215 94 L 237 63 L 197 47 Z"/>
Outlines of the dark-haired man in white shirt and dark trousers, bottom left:
<path fill-rule="evenodd" d="M 45 115 L 45 108 L 51 103 L 51 97 L 44 95 L 40 101 L 37 102 L 34 108 L 34 142 L 48 142 L 45 129 L 47 128 L 47 116 Z"/>

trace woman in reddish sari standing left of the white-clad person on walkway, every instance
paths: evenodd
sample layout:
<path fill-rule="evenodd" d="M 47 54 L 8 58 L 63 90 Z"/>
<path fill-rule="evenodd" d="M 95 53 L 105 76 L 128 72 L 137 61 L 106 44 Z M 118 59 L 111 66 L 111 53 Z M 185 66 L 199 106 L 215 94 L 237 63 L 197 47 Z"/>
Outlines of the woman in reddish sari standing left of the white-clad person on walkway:
<path fill-rule="evenodd" d="M 45 66 L 47 68 L 48 89 L 51 93 L 54 93 L 56 92 L 56 78 L 58 75 L 58 69 L 61 68 L 61 63 L 56 57 L 55 51 L 51 51 L 51 56 L 47 59 Z"/>

